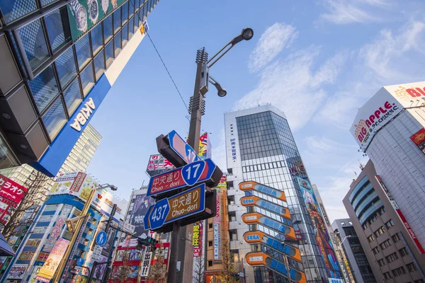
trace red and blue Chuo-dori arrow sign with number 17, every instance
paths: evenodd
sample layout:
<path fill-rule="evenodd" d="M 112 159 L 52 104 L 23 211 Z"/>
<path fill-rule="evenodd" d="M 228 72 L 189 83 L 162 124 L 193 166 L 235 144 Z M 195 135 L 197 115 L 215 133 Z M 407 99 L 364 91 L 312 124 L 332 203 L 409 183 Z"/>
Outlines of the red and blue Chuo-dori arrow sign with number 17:
<path fill-rule="evenodd" d="M 147 196 L 158 195 L 164 192 L 188 187 L 198 183 L 212 183 L 215 187 L 222 177 L 222 171 L 215 166 L 210 158 L 205 161 L 195 161 L 173 171 L 152 177 L 147 187 Z"/>

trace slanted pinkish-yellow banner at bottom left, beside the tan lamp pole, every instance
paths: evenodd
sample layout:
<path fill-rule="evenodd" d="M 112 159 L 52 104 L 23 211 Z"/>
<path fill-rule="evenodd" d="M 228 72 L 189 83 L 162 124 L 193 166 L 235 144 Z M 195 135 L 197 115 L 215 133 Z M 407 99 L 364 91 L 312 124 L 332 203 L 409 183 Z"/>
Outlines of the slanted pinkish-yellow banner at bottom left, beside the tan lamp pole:
<path fill-rule="evenodd" d="M 60 260 L 62 260 L 62 257 L 67 250 L 68 244 L 69 241 L 64 238 L 59 238 L 56 241 L 49 257 L 44 265 L 42 265 L 37 277 L 35 277 L 36 280 L 46 283 L 50 282 L 50 279 L 52 279 L 53 275 L 55 275 L 56 269 L 60 264 Z"/>

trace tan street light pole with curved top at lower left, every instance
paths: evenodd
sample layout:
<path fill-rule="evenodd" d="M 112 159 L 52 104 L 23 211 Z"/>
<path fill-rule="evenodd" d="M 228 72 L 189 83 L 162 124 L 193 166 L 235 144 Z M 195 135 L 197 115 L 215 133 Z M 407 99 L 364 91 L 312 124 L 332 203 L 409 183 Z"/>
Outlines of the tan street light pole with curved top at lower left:
<path fill-rule="evenodd" d="M 77 220 L 77 225 L 75 226 L 75 231 L 72 234 L 71 241 L 69 241 L 69 245 L 67 247 L 67 250 L 65 251 L 65 254 L 62 257 L 62 260 L 60 260 L 60 264 L 57 267 L 55 275 L 53 276 L 53 282 L 60 282 L 60 277 L 61 277 L 62 273 L 64 272 L 65 266 L 67 265 L 67 261 L 69 260 L 68 259 L 69 255 L 71 255 L 71 251 L 72 251 L 72 248 L 74 248 L 75 241 L 77 241 L 77 237 L 78 237 L 79 231 L 81 229 L 81 226 L 83 226 L 83 223 L 88 216 L 87 212 L 89 212 L 89 208 L 90 208 L 91 202 L 93 201 L 93 197 L 94 197 L 94 194 L 96 193 L 96 190 L 103 190 L 107 187 L 111 187 L 111 190 L 117 190 L 117 187 L 115 187 L 114 185 L 109 185 L 109 184 L 101 185 L 101 186 L 97 187 L 96 189 L 91 190 L 89 198 L 87 199 L 86 203 L 84 204 L 84 208 L 83 208 L 83 210 L 81 211 L 81 214 L 80 214 L 83 217 Z"/>

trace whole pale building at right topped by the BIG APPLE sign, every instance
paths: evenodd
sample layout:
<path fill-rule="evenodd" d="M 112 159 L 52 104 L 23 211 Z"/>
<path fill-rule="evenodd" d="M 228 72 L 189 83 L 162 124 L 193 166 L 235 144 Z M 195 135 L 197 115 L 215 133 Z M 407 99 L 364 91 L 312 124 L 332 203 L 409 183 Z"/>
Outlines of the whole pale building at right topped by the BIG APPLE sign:
<path fill-rule="evenodd" d="M 351 127 L 406 225 L 425 247 L 425 81 L 384 86 Z M 408 224 L 407 224 L 408 223 Z"/>

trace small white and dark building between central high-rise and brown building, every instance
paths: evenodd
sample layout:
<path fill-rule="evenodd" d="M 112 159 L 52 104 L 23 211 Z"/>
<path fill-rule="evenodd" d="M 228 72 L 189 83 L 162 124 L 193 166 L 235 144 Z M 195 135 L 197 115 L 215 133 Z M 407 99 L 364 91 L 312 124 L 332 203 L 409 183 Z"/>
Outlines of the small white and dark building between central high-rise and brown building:
<path fill-rule="evenodd" d="M 335 236 L 335 251 L 344 262 L 348 282 L 375 283 L 368 258 L 358 240 L 351 219 L 336 219 L 332 222 Z"/>

